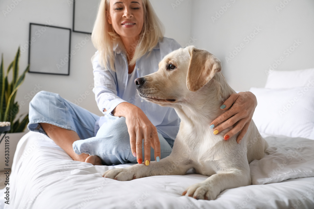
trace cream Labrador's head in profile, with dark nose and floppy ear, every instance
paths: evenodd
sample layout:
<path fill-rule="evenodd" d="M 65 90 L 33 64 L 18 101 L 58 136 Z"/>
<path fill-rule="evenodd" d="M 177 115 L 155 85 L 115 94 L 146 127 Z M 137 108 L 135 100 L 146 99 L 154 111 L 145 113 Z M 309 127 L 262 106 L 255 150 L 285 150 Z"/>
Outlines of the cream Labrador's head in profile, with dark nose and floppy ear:
<path fill-rule="evenodd" d="M 188 46 L 166 55 L 157 72 L 135 79 L 135 84 L 142 98 L 168 106 L 184 101 L 220 71 L 218 58 L 206 50 Z"/>

